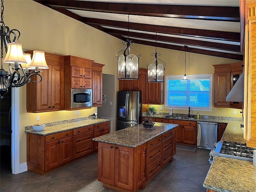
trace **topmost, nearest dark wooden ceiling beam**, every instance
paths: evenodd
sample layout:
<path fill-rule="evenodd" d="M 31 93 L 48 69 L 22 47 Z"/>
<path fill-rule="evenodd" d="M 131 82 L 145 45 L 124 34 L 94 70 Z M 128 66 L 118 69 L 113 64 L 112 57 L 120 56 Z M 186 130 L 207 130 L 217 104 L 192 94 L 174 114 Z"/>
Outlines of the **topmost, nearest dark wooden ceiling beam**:
<path fill-rule="evenodd" d="M 156 16 L 169 18 L 240 21 L 239 7 L 187 6 L 163 4 L 114 3 L 91 1 L 34 0 L 52 8 L 67 8 L 116 14 Z"/>

